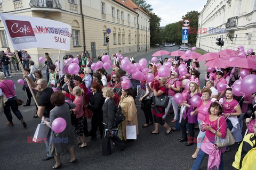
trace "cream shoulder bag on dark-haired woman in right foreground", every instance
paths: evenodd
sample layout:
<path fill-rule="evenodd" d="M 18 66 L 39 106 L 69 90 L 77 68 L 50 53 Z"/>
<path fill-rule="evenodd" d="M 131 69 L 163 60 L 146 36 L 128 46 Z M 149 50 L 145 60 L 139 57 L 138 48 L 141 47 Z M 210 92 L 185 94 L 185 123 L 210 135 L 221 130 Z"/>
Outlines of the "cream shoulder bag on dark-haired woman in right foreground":
<path fill-rule="evenodd" d="M 218 118 L 218 123 L 217 123 L 217 127 L 218 127 L 217 131 L 218 132 L 219 132 L 219 129 L 220 129 L 220 118 L 221 117 Z M 217 135 L 215 135 L 215 144 L 219 148 L 227 147 L 229 145 L 233 145 L 235 142 L 236 142 L 235 138 L 233 137 L 233 134 L 230 132 L 230 130 L 228 128 L 227 128 L 227 132 L 226 132 L 226 137 L 224 139 L 222 139 L 222 138 L 218 137 Z"/>

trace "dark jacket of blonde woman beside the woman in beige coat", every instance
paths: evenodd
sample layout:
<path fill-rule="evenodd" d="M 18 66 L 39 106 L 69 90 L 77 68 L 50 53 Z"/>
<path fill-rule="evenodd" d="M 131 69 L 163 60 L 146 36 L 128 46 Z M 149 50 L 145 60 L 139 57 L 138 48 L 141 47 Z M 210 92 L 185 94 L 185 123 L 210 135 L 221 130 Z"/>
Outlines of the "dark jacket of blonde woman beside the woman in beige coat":
<path fill-rule="evenodd" d="M 108 99 L 102 106 L 103 111 L 103 123 L 106 124 L 108 130 L 113 128 L 114 116 L 115 116 L 115 101 L 113 99 Z"/>

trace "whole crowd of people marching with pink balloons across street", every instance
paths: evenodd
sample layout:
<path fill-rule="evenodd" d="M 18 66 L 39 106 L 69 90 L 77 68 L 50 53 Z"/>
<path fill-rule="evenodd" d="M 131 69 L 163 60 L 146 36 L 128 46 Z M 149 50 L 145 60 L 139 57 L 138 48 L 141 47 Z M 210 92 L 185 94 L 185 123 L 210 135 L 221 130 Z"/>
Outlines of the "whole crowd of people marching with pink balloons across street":
<path fill-rule="evenodd" d="M 5 55 L 3 54 L 3 56 Z M 28 99 L 24 106 L 29 106 L 31 103 L 32 95 L 28 88 L 28 84 L 30 84 L 38 103 L 37 113 L 34 117 L 42 117 L 42 123 L 50 127 L 54 119 L 58 117 L 64 118 L 67 122 L 67 128 L 59 133 L 59 137 L 68 137 L 68 143 L 54 143 L 46 140 L 47 156 L 43 160 L 54 157 L 56 163 L 53 168 L 61 168 L 60 153 L 66 150 L 71 155 L 70 163 L 76 163 L 74 146 L 87 147 L 85 138 L 87 136 L 91 137 L 90 140 L 97 140 L 98 129 L 102 139 L 103 155 L 111 154 L 111 140 L 113 145 L 123 151 L 127 140 L 126 126 L 135 125 L 136 133 L 139 134 L 137 108 L 135 106 L 135 98 L 139 94 L 137 85 L 140 85 L 142 90 L 139 100 L 142 103 L 141 109 L 145 114 L 145 124 L 142 124 L 142 127 L 147 128 L 154 124 L 154 130 L 150 132 L 154 135 L 161 132 L 159 124 L 165 128 L 166 135 L 169 135 L 172 131 L 181 130 L 179 142 L 185 142 L 186 147 L 197 143 L 195 152 L 191 155 L 191 159 L 195 159 L 193 170 L 199 168 L 206 154 L 209 155 L 209 169 L 223 169 L 223 152 L 228 151 L 229 147 L 216 149 L 213 145 L 215 137 L 226 137 L 227 127 L 232 132 L 236 145 L 240 145 L 233 163 L 234 168 L 240 169 L 241 166 L 246 166 L 245 160 L 243 160 L 243 164 L 239 164 L 239 161 L 244 159 L 241 156 L 241 148 L 243 149 L 245 140 L 249 140 L 249 136 L 253 145 L 250 149 L 247 148 L 247 151 L 249 152 L 255 148 L 256 105 L 252 105 L 255 103 L 253 100 L 255 94 L 236 97 L 232 88 L 226 88 L 223 91 L 217 90 L 219 83 L 225 83 L 231 87 L 235 80 L 239 79 L 241 68 L 217 69 L 205 77 L 205 86 L 201 88 L 202 86 L 199 84 L 199 63 L 196 61 L 190 61 L 191 66 L 187 67 L 188 72 L 181 76 L 178 67 L 185 64 L 185 62 L 182 58 L 177 61 L 172 60 L 171 72 L 168 77 L 159 77 L 158 66 L 149 63 L 148 72 L 154 74 L 154 81 L 140 81 L 139 84 L 131 83 L 130 88 L 123 89 L 121 86 L 122 77 L 128 77 L 131 82 L 138 82 L 138 80 L 130 78 L 129 74 L 122 70 L 120 60 L 115 55 L 111 57 L 115 61 L 115 65 L 113 65 L 110 75 L 103 67 L 92 71 L 90 68 L 92 61 L 90 54 L 87 52 L 77 55 L 81 67 L 81 71 L 77 75 L 59 75 L 58 69 L 56 69 L 57 66 L 53 64 L 49 54 L 45 53 L 46 60 L 43 67 L 46 67 L 46 79 L 43 78 L 41 71 L 34 66 L 34 62 L 30 60 L 26 51 L 23 51 L 22 56 L 25 58 L 23 67 L 27 66 L 23 90 L 26 91 Z M 68 57 L 73 56 L 69 55 Z M 2 65 L 3 60 L 7 59 L 1 58 Z M 10 65 L 11 63 L 13 62 L 10 62 Z M 135 61 L 132 60 L 131 63 L 135 63 Z M 164 62 L 160 60 L 159 63 L 163 65 Z M 15 95 L 16 87 L 12 80 L 5 79 L 5 71 L 7 70 L 8 66 L 5 67 L 4 73 L 0 72 L 0 96 L 4 95 L 7 98 L 4 106 L 4 113 L 8 120 L 7 125 L 13 125 L 10 111 L 10 108 L 12 108 L 15 116 L 26 128 L 27 124 L 23 120 L 17 103 L 12 102 L 17 99 Z M 230 74 L 231 70 L 234 71 L 234 74 Z M 10 75 L 8 71 L 7 74 Z M 252 70 L 251 74 L 255 74 L 255 71 Z M 183 101 L 181 103 L 175 101 L 176 94 L 182 95 Z M 168 100 L 167 106 L 156 106 L 154 98 L 163 95 L 167 96 L 165 98 Z M 197 107 L 191 104 L 193 103 L 191 99 L 194 96 L 200 98 Z M 119 125 L 114 126 L 116 108 L 121 110 L 126 119 Z M 249 110 L 252 110 L 251 114 L 248 112 Z M 174 117 L 171 122 L 167 122 L 166 116 L 171 112 L 174 113 Z M 90 131 L 87 127 L 88 118 L 91 118 Z M 245 138 L 242 134 L 244 120 L 249 133 Z M 220 123 L 220 127 L 218 127 L 217 122 Z M 175 126 L 171 127 L 170 123 L 175 123 Z M 199 126 L 197 137 L 195 135 L 196 126 Z M 55 134 L 57 133 L 50 129 L 47 139 L 54 138 Z"/>

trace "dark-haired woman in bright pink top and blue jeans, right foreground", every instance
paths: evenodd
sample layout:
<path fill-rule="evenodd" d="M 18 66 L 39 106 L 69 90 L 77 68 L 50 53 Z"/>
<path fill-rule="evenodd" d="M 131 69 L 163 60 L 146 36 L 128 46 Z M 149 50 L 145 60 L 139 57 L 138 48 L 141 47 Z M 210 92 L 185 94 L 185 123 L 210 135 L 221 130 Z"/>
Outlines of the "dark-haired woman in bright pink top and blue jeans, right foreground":
<path fill-rule="evenodd" d="M 206 154 L 209 155 L 207 169 L 222 170 L 224 167 L 223 153 L 225 152 L 226 147 L 218 148 L 214 143 L 216 136 L 222 139 L 226 137 L 227 122 L 225 118 L 221 116 L 222 106 L 219 103 L 213 102 L 210 105 L 208 112 L 209 115 L 207 115 L 201 122 L 201 130 L 203 132 L 205 131 L 205 138 L 198 151 L 192 170 L 197 170 L 200 167 Z"/>

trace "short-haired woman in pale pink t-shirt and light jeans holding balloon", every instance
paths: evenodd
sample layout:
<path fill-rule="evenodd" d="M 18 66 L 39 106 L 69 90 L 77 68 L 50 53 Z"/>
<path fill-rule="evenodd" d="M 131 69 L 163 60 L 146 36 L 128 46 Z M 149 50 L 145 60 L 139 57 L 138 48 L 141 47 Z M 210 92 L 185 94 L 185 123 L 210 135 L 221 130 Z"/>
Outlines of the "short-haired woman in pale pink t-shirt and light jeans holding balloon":
<path fill-rule="evenodd" d="M 204 120 L 205 116 L 209 115 L 208 109 L 210 108 L 210 105 L 212 103 L 212 101 L 210 100 L 211 94 L 212 94 L 211 89 L 209 89 L 207 87 L 202 89 L 202 97 L 203 97 L 203 99 L 201 100 L 201 103 L 195 109 L 195 111 L 190 113 L 190 114 L 193 114 L 193 115 L 197 114 L 197 121 L 198 121 L 198 125 L 199 125 L 199 130 L 200 130 L 200 132 L 199 132 L 199 134 L 197 136 L 196 151 L 191 156 L 191 159 L 196 159 L 198 151 L 199 151 L 199 149 L 201 147 L 201 144 L 202 144 L 202 142 L 204 140 L 204 137 L 205 137 L 205 132 L 201 131 L 200 123 Z"/>

